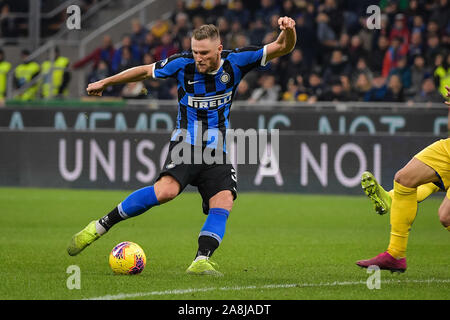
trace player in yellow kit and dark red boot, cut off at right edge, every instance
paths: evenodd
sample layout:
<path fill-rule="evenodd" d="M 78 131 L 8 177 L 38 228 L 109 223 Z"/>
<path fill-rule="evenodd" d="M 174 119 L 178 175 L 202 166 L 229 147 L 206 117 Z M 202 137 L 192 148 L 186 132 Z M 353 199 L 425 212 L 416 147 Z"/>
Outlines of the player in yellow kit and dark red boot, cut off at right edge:
<path fill-rule="evenodd" d="M 450 98 L 450 87 L 446 89 Z M 450 106 L 450 102 L 445 103 Z M 418 202 L 433 192 L 446 191 L 438 215 L 441 224 L 450 231 L 450 138 L 436 141 L 417 153 L 395 174 L 391 192 L 386 192 L 370 172 L 362 175 L 361 185 L 378 213 L 390 211 L 391 236 L 386 252 L 356 264 L 363 268 L 376 265 L 382 270 L 405 272 L 408 236 Z"/>

